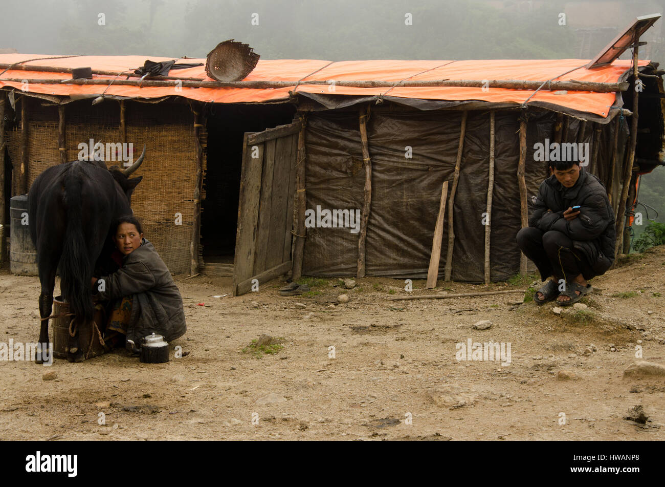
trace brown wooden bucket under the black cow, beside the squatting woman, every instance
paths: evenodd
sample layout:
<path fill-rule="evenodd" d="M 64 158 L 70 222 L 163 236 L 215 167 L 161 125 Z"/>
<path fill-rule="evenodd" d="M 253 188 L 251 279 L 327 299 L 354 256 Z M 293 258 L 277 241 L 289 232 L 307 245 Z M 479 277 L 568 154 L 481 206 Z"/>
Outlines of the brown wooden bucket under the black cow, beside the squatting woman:
<path fill-rule="evenodd" d="M 53 298 L 53 314 L 62 315 L 65 313 L 69 313 L 69 303 L 64 302 L 62 296 Z M 51 324 L 53 325 L 53 357 L 56 357 L 57 359 L 67 358 L 66 349 L 69 343 L 69 322 L 71 319 L 72 317 L 70 316 L 63 316 L 53 318 L 51 321 Z M 95 308 L 94 321 L 96 321 L 97 327 L 102 331 L 104 329 L 103 309 Z M 94 333 L 95 336 L 94 339 L 92 339 L 92 346 L 90 346 L 92 333 Z M 92 326 L 92 323 L 78 326 L 78 345 L 88 359 L 104 353 L 104 347 L 102 347 L 99 337 L 97 336 L 97 331 Z"/>

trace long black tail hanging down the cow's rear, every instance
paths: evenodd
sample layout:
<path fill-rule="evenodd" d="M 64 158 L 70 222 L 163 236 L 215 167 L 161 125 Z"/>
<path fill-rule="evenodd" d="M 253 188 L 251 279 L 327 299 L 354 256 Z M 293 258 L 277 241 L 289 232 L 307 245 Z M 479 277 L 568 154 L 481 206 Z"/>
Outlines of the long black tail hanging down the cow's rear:
<path fill-rule="evenodd" d="M 70 312 L 78 323 L 92 320 L 94 307 L 90 290 L 92 264 L 88 258 L 88 245 L 83 234 L 82 219 L 82 174 L 77 164 L 72 164 L 65 174 L 65 195 L 63 202 L 66 211 L 65 242 L 60 259 L 61 287 L 63 297 L 68 301 Z"/>

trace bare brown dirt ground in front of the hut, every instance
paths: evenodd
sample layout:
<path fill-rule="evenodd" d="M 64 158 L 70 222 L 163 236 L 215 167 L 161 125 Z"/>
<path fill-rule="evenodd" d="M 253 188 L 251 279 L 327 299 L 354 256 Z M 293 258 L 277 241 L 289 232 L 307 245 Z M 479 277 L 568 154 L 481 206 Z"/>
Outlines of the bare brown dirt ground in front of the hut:
<path fill-rule="evenodd" d="M 644 360 L 665 364 L 665 246 L 593 279 L 589 309 L 562 315 L 552 303 L 510 304 L 522 293 L 390 301 L 408 295 L 399 279 L 359 279 L 354 289 L 311 280 L 306 298 L 279 296 L 279 281 L 231 297 L 230 279 L 184 277 L 188 332 L 170 344 L 168 363 L 126 351 L 51 367 L 0 361 L 0 438 L 665 439 L 665 377 L 623 378 L 638 340 Z M 412 295 L 531 281 L 439 281 L 434 291 L 414 281 Z M 329 309 L 340 293 L 350 301 Z M 0 341 L 37 341 L 38 296 L 37 277 L 0 271 Z M 492 325 L 473 329 L 479 320 Z M 262 333 L 283 337 L 283 348 L 248 349 Z M 510 343 L 510 364 L 458 361 L 467 339 Z M 188 355 L 174 358 L 176 345 Z M 44 380 L 49 372 L 57 379 Z M 635 405 L 646 424 L 624 419 Z"/>

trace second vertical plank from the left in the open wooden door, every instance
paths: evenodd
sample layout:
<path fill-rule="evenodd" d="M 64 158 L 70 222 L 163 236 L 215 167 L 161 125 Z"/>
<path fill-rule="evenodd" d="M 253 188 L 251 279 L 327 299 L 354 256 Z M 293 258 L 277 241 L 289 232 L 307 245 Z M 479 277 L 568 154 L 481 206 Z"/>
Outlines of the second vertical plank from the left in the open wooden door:
<path fill-rule="evenodd" d="M 279 139 L 278 139 L 279 140 Z M 259 198 L 259 226 L 257 227 L 256 250 L 254 254 L 253 274 L 265 271 L 269 268 L 267 264 L 268 249 L 272 242 L 269 239 L 270 215 L 273 203 L 273 175 L 275 172 L 275 142 L 267 140 L 263 144 L 263 174 L 261 176 L 261 197 Z"/>

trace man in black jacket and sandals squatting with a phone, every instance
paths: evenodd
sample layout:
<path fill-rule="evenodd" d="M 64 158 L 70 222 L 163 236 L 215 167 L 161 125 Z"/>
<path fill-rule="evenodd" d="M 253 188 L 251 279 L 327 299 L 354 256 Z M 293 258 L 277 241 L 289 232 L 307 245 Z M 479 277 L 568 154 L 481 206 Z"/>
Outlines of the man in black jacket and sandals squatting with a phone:
<path fill-rule="evenodd" d="M 517 233 L 517 244 L 543 281 L 551 277 L 534 301 L 542 305 L 556 299 L 569 306 L 591 291 L 589 279 L 614 262 L 614 211 L 602 182 L 580 167 L 579 158 L 551 162 L 549 168 L 551 176 L 541 183 L 529 226 Z"/>

